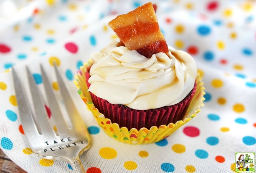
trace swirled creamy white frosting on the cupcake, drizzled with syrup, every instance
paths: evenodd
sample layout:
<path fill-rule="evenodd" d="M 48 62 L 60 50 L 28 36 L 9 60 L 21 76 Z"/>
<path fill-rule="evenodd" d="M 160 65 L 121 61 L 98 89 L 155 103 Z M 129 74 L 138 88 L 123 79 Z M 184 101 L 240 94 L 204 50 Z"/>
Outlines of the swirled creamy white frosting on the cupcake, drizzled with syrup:
<path fill-rule="evenodd" d="M 89 91 L 113 104 L 136 110 L 156 109 L 180 102 L 193 89 L 194 59 L 168 46 L 169 54 L 151 58 L 113 42 L 91 54 Z"/>

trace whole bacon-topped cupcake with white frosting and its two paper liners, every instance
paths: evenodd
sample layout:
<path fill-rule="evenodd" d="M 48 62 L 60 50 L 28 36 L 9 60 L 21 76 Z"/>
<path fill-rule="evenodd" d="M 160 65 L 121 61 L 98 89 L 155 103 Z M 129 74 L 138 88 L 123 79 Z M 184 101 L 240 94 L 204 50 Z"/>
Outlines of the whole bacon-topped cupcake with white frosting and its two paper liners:
<path fill-rule="evenodd" d="M 111 20 L 120 40 L 91 54 L 76 76 L 78 93 L 99 125 L 125 143 L 157 142 L 203 105 L 195 61 L 166 44 L 156 9 L 147 3 Z"/>

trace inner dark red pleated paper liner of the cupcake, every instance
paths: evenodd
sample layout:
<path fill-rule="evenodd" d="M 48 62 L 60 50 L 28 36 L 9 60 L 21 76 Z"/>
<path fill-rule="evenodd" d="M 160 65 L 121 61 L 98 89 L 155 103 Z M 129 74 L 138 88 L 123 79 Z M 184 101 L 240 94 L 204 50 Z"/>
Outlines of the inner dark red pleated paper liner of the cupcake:
<path fill-rule="evenodd" d="M 90 84 L 88 79 L 89 72 L 85 73 L 86 83 L 88 88 Z M 163 106 L 157 109 L 135 110 L 120 104 L 112 104 L 107 100 L 97 97 L 90 92 L 94 106 L 102 113 L 105 118 L 111 120 L 112 123 L 117 123 L 119 127 L 127 127 L 128 130 L 136 128 L 139 130 L 142 127 L 150 129 L 152 126 L 168 125 L 182 120 L 189 103 L 196 91 L 196 83 L 190 93 L 179 103 L 171 106 Z"/>

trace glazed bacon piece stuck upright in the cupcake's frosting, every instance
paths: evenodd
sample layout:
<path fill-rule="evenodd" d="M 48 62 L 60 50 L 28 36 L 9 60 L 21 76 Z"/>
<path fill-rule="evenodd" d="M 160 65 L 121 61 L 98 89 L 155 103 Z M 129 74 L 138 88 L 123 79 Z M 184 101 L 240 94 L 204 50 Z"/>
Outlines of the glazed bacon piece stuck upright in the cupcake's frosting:
<path fill-rule="evenodd" d="M 129 50 L 137 50 L 147 58 L 159 52 L 167 54 L 169 50 L 158 25 L 156 9 L 157 6 L 149 2 L 117 16 L 108 25 Z"/>

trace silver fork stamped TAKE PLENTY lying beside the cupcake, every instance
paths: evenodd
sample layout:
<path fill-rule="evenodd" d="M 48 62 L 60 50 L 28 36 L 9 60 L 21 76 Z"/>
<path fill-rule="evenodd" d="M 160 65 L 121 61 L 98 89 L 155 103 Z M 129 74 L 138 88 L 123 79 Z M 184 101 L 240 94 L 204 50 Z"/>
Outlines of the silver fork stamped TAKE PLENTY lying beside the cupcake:
<path fill-rule="evenodd" d="M 40 65 L 44 90 L 52 113 L 52 121 L 49 121 L 45 109 L 46 104 L 28 67 L 26 69 L 34 110 L 28 102 L 28 97 L 16 70 L 12 68 L 20 120 L 27 141 L 35 154 L 44 159 L 64 160 L 72 166 L 75 172 L 85 172 L 79 156 L 89 149 L 90 136 L 56 65 L 54 68 L 64 107 L 66 107 L 69 118 L 66 118 L 66 121 L 64 120 L 62 109 L 58 104 L 49 79 Z"/>

